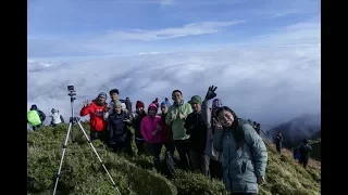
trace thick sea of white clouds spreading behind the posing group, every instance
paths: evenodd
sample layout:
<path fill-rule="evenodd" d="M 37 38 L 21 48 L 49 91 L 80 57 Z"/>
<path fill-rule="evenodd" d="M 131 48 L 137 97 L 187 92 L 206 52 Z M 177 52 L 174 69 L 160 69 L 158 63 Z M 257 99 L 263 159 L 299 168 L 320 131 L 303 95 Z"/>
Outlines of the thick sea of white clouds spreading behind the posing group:
<path fill-rule="evenodd" d="M 170 98 L 174 89 L 181 89 L 186 101 L 195 94 L 203 96 L 214 84 L 219 87 L 217 96 L 239 116 L 282 122 L 303 113 L 320 113 L 320 24 L 301 23 L 273 36 L 257 37 L 250 43 L 211 51 L 136 53 L 50 62 L 50 66 L 28 61 L 27 104 L 36 103 L 46 113 L 55 107 L 67 118 L 69 84 L 77 90 L 75 114 L 84 99 L 91 100 L 113 88 L 120 89 L 122 98 L 142 100 L 148 105 L 157 96 L 161 101 Z"/>

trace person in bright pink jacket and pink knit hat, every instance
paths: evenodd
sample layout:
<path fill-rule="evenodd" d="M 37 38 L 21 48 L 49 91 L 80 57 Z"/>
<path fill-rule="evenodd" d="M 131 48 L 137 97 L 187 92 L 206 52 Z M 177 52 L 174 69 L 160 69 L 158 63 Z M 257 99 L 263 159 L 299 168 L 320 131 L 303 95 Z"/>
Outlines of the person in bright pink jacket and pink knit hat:
<path fill-rule="evenodd" d="M 148 107 L 148 115 L 142 118 L 140 132 L 145 139 L 154 165 L 158 168 L 161 164 L 161 150 L 164 141 L 164 131 L 161 127 L 161 117 L 157 116 L 158 107 L 151 103 Z"/>

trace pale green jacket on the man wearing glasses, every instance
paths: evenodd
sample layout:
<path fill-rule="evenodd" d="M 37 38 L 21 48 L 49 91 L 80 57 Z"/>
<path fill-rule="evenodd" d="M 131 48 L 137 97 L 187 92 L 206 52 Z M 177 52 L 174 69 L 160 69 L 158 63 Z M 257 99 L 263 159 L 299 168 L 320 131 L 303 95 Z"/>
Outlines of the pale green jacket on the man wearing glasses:
<path fill-rule="evenodd" d="M 172 112 L 174 112 L 175 119 L 172 121 Z M 167 110 L 166 117 L 165 117 L 165 123 L 171 127 L 172 133 L 173 133 L 173 140 L 186 140 L 189 139 L 189 135 L 186 134 L 186 129 L 184 127 L 185 119 L 179 118 L 179 113 L 185 115 L 186 117 L 192 113 L 191 105 L 184 102 L 182 105 L 171 105 L 171 107 Z"/>

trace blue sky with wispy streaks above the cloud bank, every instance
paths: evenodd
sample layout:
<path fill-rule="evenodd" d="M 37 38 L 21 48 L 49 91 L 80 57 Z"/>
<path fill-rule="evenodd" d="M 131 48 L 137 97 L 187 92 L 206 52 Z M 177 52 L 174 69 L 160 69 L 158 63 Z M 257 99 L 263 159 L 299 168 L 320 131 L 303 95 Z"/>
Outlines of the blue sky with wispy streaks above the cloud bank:
<path fill-rule="evenodd" d="M 316 0 L 28 0 L 28 58 L 233 47 L 320 13 Z"/>

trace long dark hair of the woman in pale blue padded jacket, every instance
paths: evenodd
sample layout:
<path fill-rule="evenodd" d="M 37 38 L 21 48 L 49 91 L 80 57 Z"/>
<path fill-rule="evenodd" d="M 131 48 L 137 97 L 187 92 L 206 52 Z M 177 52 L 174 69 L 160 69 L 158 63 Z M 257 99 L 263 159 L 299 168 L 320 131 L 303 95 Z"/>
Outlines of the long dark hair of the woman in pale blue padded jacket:
<path fill-rule="evenodd" d="M 233 112 L 229 107 L 227 106 L 222 106 L 222 107 L 219 107 L 217 110 L 216 110 L 216 117 L 219 116 L 219 114 L 221 112 L 228 112 L 232 114 L 232 116 L 234 117 L 234 121 L 232 123 L 232 133 L 233 133 L 233 136 L 236 141 L 236 145 L 237 145 L 237 150 L 241 146 L 241 142 L 244 141 L 244 132 L 243 132 L 243 128 L 239 126 L 239 120 L 238 120 L 238 117 L 237 115 L 235 114 L 235 112 Z"/>

